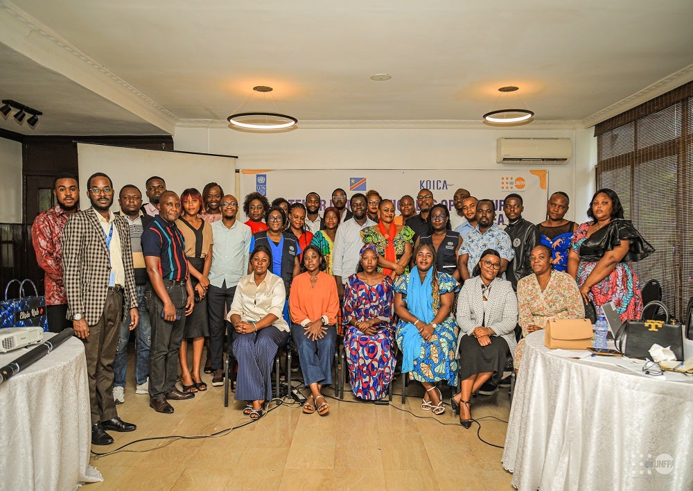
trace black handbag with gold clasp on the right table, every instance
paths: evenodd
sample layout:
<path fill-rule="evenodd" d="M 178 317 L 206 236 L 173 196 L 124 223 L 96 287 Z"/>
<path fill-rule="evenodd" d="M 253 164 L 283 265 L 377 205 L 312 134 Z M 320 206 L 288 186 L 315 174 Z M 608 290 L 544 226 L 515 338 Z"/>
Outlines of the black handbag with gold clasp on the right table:
<path fill-rule="evenodd" d="M 666 320 L 645 320 L 645 312 L 649 307 L 660 307 L 665 313 Z M 658 309 L 653 309 L 656 314 Z M 649 349 L 653 344 L 663 347 L 670 346 L 676 359 L 683 360 L 683 325 L 669 323 L 669 310 L 658 300 L 649 302 L 642 309 L 640 320 L 626 320 L 615 334 L 616 347 L 630 358 L 646 359 L 650 357 Z"/>

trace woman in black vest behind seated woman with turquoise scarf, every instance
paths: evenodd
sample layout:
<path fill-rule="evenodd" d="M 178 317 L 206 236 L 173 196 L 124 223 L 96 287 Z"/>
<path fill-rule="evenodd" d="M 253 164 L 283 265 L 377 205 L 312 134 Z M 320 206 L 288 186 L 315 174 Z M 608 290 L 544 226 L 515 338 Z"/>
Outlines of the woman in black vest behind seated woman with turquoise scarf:
<path fill-rule="evenodd" d="M 436 267 L 440 273 L 448 273 L 458 282 L 460 279 L 457 269 L 457 255 L 459 246 L 462 246 L 462 237 L 458 232 L 450 230 L 450 211 L 446 205 L 438 203 L 431 207 L 428 213 L 428 223 L 432 233 L 428 236 L 419 236 L 414 243 L 414 248 L 419 244 L 432 244 L 436 251 Z"/>

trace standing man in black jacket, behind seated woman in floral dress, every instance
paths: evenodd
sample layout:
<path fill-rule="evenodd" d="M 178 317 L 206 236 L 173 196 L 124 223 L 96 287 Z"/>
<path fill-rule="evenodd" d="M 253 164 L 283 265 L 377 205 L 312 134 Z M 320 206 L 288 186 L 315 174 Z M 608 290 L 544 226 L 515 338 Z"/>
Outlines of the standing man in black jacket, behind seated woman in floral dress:
<path fill-rule="evenodd" d="M 532 249 L 541 242 L 541 236 L 536 225 L 522 217 L 522 212 L 524 211 L 525 206 L 522 196 L 511 193 L 505 197 L 503 212 L 508 219 L 505 232 L 510 236 L 513 250 L 515 251 L 515 257 L 508 265 L 506 278 L 513 284 L 515 291 L 518 289 L 518 281 L 532 274 L 529 256 L 532 255 Z"/>

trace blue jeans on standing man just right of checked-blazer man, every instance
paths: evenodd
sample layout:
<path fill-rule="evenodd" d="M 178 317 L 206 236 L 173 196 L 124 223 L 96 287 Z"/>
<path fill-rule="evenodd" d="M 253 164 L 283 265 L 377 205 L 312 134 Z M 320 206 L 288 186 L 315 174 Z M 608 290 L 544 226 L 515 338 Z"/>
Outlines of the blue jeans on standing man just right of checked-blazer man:
<path fill-rule="evenodd" d="M 135 327 L 134 341 L 134 379 L 137 384 L 144 384 L 149 377 L 149 347 L 152 344 L 152 325 L 149 313 L 144 304 L 145 285 L 137 285 L 137 311 L 139 323 Z M 125 387 L 125 372 L 128 368 L 128 340 L 130 339 L 130 310 L 125 309 L 123 322 L 120 325 L 116 359 L 113 361 L 114 386 Z"/>

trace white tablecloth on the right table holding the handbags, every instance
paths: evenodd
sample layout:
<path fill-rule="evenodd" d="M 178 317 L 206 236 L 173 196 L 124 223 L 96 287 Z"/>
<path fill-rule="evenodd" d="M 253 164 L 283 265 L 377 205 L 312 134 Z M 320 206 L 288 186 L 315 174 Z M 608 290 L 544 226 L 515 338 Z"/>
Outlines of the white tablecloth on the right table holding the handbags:
<path fill-rule="evenodd" d="M 502 461 L 514 487 L 692 490 L 692 380 L 561 358 L 543 336 L 527 336 L 510 411 Z"/>

